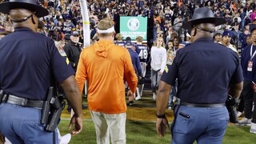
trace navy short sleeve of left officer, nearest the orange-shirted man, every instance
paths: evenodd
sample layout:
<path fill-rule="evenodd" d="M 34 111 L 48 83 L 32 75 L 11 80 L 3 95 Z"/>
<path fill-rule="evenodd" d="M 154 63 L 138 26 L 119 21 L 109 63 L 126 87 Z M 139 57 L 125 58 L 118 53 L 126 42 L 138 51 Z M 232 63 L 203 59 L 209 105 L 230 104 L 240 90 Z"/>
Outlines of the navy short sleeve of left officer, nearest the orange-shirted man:
<path fill-rule="evenodd" d="M 59 54 L 57 47 L 54 46 L 54 42 L 51 49 L 53 50 L 51 56 L 51 69 L 53 70 L 54 77 L 58 83 L 62 83 L 66 78 L 74 75 L 74 69 L 70 66 L 70 62 L 66 56 Z"/>

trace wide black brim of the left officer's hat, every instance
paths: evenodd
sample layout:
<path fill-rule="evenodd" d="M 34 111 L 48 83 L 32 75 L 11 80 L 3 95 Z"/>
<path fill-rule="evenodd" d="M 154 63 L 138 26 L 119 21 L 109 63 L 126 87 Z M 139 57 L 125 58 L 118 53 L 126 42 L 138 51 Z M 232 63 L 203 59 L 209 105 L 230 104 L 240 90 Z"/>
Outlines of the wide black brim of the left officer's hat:
<path fill-rule="evenodd" d="M 0 3 L 0 12 L 3 14 L 10 14 L 10 10 L 24 8 L 26 10 L 31 10 L 36 12 L 38 18 L 44 17 L 49 14 L 48 10 L 42 6 L 33 5 L 26 2 L 2 2 Z"/>

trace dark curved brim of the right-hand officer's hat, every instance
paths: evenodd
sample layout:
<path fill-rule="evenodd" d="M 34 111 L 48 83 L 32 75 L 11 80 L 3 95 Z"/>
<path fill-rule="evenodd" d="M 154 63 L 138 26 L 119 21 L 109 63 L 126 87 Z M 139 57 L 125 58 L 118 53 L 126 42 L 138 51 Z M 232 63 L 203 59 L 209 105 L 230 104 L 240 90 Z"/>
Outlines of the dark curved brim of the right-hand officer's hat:
<path fill-rule="evenodd" d="M 200 18 L 183 23 L 182 28 L 191 30 L 192 26 L 198 23 L 214 23 L 215 26 L 219 26 L 226 23 L 226 20 L 224 18 Z"/>

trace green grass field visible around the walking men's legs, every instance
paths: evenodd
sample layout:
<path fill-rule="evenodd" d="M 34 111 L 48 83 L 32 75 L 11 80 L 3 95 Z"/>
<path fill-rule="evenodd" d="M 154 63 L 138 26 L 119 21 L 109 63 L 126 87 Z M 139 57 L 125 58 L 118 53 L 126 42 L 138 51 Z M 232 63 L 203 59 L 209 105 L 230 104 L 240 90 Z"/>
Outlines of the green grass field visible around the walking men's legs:
<path fill-rule="evenodd" d="M 68 133 L 69 120 L 63 120 L 58 126 L 61 134 Z M 255 144 L 256 134 L 250 134 L 250 126 L 228 126 L 223 144 Z M 170 132 L 164 138 L 157 136 L 154 122 L 126 122 L 126 143 L 127 144 L 158 144 L 170 143 Z M 96 134 L 94 123 L 87 119 L 83 122 L 83 130 L 75 135 L 70 144 L 94 144 L 96 143 Z M 196 142 L 194 142 L 196 143 Z"/>

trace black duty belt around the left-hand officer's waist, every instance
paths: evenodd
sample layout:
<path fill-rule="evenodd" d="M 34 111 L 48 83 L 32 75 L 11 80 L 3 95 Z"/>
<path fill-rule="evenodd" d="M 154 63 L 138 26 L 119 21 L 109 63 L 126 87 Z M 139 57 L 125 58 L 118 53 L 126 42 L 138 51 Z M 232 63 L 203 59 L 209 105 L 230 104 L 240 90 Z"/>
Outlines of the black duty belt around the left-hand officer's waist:
<path fill-rule="evenodd" d="M 2 99 L 0 99 L 0 101 L 18 105 L 18 106 L 34 107 L 38 109 L 42 109 L 42 105 L 43 105 L 43 101 L 30 100 L 28 98 L 20 98 L 11 94 L 4 94 L 2 96 Z"/>

